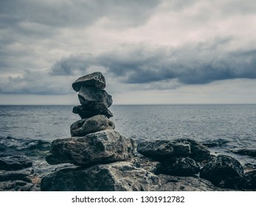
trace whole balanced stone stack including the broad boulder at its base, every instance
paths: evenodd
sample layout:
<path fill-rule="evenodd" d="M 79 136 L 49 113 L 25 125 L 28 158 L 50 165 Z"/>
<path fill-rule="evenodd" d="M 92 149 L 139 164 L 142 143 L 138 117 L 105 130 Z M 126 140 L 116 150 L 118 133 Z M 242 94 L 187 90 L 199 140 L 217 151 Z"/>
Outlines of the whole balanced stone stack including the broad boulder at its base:
<path fill-rule="evenodd" d="M 114 130 L 113 114 L 108 110 L 112 99 L 104 90 L 103 74 L 80 77 L 72 87 L 81 104 L 73 108 L 73 113 L 82 119 L 71 125 L 71 138 L 52 142 L 46 161 L 75 166 L 46 175 L 41 191 L 158 190 L 156 175 L 125 161 L 134 157 L 135 143 Z"/>

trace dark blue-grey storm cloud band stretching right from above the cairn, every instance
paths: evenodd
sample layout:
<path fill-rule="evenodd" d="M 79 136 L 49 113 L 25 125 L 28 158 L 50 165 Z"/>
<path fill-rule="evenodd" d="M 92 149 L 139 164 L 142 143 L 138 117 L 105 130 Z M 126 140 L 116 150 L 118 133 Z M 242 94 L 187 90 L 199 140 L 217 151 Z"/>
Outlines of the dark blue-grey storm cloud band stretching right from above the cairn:
<path fill-rule="evenodd" d="M 178 79 L 184 84 L 206 84 L 222 79 L 256 78 L 256 49 L 224 51 L 228 42 L 214 40 L 180 48 L 131 50 L 126 58 L 119 54 L 100 58 L 103 65 L 126 83 L 150 83 Z M 139 60 L 136 57 L 140 57 Z"/>

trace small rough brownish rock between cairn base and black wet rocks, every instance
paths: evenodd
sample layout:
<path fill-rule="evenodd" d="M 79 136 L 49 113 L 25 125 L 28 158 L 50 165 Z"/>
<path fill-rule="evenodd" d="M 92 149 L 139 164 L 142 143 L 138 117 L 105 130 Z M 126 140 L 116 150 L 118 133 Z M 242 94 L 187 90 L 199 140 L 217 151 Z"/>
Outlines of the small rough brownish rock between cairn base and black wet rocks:
<path fill-rule="evenodd" d="M 153 174 L 160 173 L 161 163 L 159 163 L 158 161 L 152 160 L 151 158 L 144 157 L 144 156 L 133 157 L 131 159 L 131 163 L 136 168 L 144 168 L 146 171 L 150 171 Z"/>

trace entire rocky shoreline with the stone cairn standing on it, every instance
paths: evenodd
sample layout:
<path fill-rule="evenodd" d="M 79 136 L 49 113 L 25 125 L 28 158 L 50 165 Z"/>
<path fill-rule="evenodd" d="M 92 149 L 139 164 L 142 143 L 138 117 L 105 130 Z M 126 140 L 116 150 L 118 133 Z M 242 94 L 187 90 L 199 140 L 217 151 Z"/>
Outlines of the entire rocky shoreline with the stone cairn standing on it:
<path fill-rule="evenodd" d="M 73 113 L 81 119 L 71 125 L 71 137 L 41 142 L 52 172 L 38 174 L 35 162 L 4 154 L 0 143 L 0 191 L 256 191 L 255 167 L 214 156 L 193 139 L 136 143 L 117 132 L 100 72 L 80 77 L 72 87 L 81 104 Z"/>

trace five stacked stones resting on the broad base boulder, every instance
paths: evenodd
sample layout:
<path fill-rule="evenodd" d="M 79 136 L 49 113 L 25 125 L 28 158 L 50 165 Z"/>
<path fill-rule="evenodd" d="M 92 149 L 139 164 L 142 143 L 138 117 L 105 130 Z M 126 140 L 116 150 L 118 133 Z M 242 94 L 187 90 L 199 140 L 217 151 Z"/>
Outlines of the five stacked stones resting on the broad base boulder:
<path fill-rule="evenodd" d="M 91 166 L 128 160 L 134 142 L 114 130 L 113 114 L 108 107 L 112 97 L 105 90 L 105 77 L 94 72 L 78 78 L 72 88 L 78 92 L 81 105 L 73 113 L 82 118 L 70 127 L 72 138 L 57 139 L 46 156 L 50 164 L 73 163 L 76 166 Z"/>

